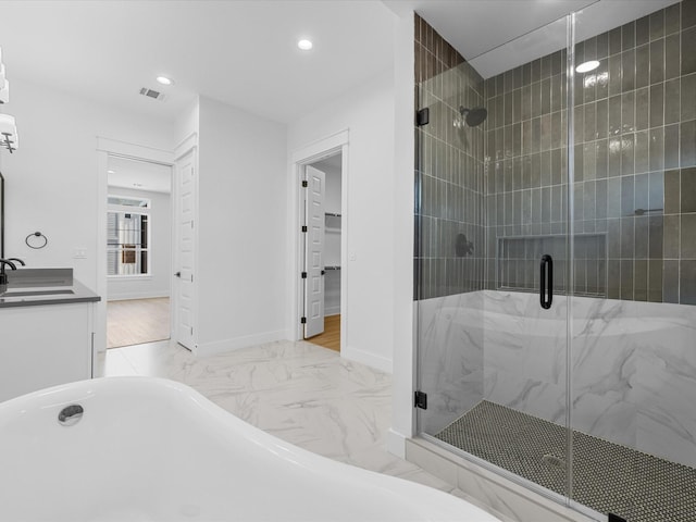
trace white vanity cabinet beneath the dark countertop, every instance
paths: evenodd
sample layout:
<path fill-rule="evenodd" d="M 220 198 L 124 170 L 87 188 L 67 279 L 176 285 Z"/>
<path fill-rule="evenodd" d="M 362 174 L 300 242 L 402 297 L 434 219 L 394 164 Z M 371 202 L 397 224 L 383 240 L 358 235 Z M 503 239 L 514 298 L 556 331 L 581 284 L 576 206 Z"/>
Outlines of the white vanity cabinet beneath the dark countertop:
<path fill-rule="evenodd" d="M 94 302 L 0 308 L 0 401 L 92 376 Z"/>

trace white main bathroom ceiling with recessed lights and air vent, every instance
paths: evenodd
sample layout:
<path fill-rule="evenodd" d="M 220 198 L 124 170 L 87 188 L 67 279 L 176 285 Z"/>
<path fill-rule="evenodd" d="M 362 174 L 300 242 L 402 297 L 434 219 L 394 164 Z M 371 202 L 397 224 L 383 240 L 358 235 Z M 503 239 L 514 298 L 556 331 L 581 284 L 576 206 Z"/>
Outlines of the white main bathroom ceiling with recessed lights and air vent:
<path fill-rule="evenodd" d="M 389 70 L 393 24 L 377 0 L 1 1 L 0 47 L 10 80 L 167 120 L 201 94 L 289 122 Z"/>

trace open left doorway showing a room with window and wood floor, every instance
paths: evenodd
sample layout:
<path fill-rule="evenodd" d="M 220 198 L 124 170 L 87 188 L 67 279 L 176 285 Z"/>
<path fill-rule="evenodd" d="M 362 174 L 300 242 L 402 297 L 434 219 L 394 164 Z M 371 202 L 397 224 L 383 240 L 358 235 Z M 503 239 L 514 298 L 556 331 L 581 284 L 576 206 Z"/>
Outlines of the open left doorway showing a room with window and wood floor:
<path fill-rule="evenodd" d="M 109 156 L 107 348 L 170 338 L 172 167 Z"/>

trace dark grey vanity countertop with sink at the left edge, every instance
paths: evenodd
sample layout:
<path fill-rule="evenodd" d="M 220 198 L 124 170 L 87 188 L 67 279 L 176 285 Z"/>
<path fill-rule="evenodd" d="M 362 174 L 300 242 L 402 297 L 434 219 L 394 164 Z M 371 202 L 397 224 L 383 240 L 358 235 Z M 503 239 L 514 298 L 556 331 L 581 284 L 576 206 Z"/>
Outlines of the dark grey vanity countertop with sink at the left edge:
<path fill-rule="evenodd" d="M 64 273 L 58 270 L 25 269 L 24 273 L 22 272 L 16 271 L 14 277 L 10 276 L 8 285 L 0 286 L 0 308 L 72 304 L 101 300 L 97 294 L 73 279 L 72 271 L 70 276 L 64 276 Z M 25 274 L 30 275 L 30 278 Z M 57 277 L 57 274 L 60 277 Z"/>

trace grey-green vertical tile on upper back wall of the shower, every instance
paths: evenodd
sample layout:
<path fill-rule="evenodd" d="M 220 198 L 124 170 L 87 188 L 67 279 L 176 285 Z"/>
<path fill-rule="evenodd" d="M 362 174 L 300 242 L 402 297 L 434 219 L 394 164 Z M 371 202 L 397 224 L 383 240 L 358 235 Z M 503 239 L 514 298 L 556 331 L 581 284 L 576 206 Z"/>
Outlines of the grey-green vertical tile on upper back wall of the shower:
<path fill-rule="evenodd" d="M 680 269 L 680 262 L 696 259 L 696 247 L 692 247 L 696 239 L 691 236 L 695 233 L 693 217 L 686 215 L 696 213 L 696 194 L 693 177 L 684 174 L 696 166 L 693 12 L 694 2 L 676 3 L 576 46 L 577 62 L 596 58 L 600 66 L 575 75 L 573 226 L 575 234 L 607 231 L 610 246 L 604 258 L 576 259 L 573 290 L 577 295 L 587 295 L 592 288 L 597 295 L 611 298 L 686 303 L 689 288 L 696 285 L 691 272 Z M 502 151 L 502 158 L 488 140 L 485 158 L 493 167 L 486 172 L 494 171 L 495 162 L 502 159 L 523 165 L 520 184 L 512 178 L 511 184 L 486 186 L 486 195 L 502 192 L 504 204 L 512 206 L 509 212 L 489 214 L 486 226 L 496 234 L 486 237 L 496 241 L 501 240 L 501 235 L 506 241 L 525 236 L 520 240 L 532 244 L 537 235 L 529 231 L 538 231 L 543 236 L 567 228 L 563 194 L 568 187 L 557 169 L 559 163 L 554 162 L 566 150 L 552 130 L 555 119 L 567 117 L 564 100 L 554 104 L 558 92 L 554 86 L 564 83 L 564 53 L 555 55 L 559 58 L 555 70 L 544 67 L 552 59 L 543 57 L 522 66 L 521 83 L 505 83 L 507 73 L 494 80 L 500 86 L 497 97 L 505 99 L 512 91 L 517 99 L 519 90 L 522 107 L 507 119 L 487 123 L 487 136 L 498 137 L 495 147 Z M 530 74 L 524 74 L 525 67 Z M 486 100 L 488 105 L 492 102 Z M 508 127 L 521 129 L 521 148 L 509 144 L 514 137 L 507 133 Z M 550 176 L 544 161 L 536 162 L 537 175 L 535 154 L 547 150 L 551 156 Z M 599 179 L 608 182 L 598 185 Z M 534 206 L 532 212 L 524 211 L 523 191 L 532 186 L 540 189 L 539 212 L 533 211 Z M 520 196 L 518 191 L 522 191 Z M 522 201 L 522 212 L 517 211 L 518 200 Z M 500 214 L 505 216 L 502 222 L 498 221 Z M 614 219 L 620 221 L 607 221 Z M 501 224 L 504 228 L 499 228 Z M 533 248 L 530 251 L 538 253 Z M 664 260 L 675 261 L 676 270 L 658 276 L 658 270 L 667 270 Z M 532 279 L 519 273 L 518 266 L 530 261 L 531 258 L 488 259 L 486 265 L 495 266 L 496 277 L 487 276 L 486 287 L 529 291 L 532 288 L 526 285 Z M 600 273 L 610 285 L 597 275 Z"/>

